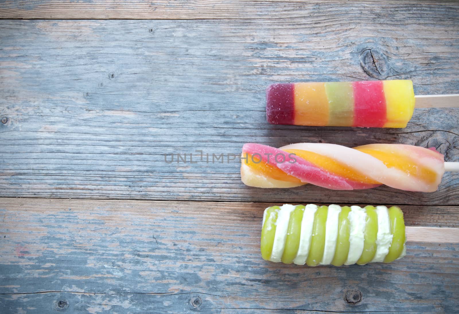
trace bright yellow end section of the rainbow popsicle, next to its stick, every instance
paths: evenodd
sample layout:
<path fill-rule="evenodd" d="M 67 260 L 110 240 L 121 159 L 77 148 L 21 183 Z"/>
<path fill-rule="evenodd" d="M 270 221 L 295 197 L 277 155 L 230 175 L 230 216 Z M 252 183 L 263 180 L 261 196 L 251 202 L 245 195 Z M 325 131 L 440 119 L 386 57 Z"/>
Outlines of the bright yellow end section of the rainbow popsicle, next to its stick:
<path fill-rule="evenodd" d="M 386 96 L 387 122 L 384 128 L 405 128 L 414 112 L 413 82 L 410 80 L 383 81 Z"/>

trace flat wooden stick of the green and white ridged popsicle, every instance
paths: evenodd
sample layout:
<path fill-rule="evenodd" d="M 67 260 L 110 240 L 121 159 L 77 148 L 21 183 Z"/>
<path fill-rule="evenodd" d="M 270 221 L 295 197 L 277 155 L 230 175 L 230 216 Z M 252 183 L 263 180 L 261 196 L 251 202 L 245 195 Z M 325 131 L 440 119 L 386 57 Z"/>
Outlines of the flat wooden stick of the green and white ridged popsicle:
<path fill-rule="evenodd" d="M 459 243 L 459 228 L 405 227 L 406 241 Z"/>

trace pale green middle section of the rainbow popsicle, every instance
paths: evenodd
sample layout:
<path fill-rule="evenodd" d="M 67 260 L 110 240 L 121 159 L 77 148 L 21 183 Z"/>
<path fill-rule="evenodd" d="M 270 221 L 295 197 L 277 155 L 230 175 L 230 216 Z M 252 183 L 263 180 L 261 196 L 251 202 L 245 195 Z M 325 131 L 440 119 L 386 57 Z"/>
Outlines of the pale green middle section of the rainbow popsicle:
<path fill-rule="evenodd" d="M 354 117 L 354 89 L 350 82 L 327 82 L 325 93 L 328 98 L 331 126 L 352 126 Z"/>

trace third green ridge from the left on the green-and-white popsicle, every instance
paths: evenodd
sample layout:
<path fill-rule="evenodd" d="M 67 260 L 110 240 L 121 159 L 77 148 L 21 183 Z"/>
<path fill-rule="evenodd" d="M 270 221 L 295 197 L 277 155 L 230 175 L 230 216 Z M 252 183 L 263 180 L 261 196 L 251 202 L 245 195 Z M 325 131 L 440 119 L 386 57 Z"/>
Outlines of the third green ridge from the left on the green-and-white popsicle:
<path fill-rule="evenodd" d="M 328 206 L 320 206 L 314 214 L 313 235 L 309 248 L 308 266 L 317 266 L 322 260 L 325 248 L 325 227 L 327 224 Z"/>

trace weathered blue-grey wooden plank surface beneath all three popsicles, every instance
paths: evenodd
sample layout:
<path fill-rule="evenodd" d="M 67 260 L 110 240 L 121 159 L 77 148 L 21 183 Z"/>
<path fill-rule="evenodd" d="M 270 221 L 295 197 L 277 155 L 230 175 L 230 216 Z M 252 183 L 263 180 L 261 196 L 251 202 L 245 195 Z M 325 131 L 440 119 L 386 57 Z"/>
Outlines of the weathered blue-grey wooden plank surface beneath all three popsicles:
<path fill-rule="evenodd" d="M 307 268 L 263 261 L 259 235 L 272 202 L 408 204 L 407 225 L 458 227 L 459 174 L 435 193 L 260 190 L 228 162 L 246 142 L 305 141 L 435 146 L 459 161 L 458 109 L 417 109 L 406 129 L 274 126 L 264 113 L 273 82 L 458 93 L 457 1 L 0 0 L 0 18 L 147 19 L 0 20 L 0 313 L 457 312 L 458 245 Z"/>

